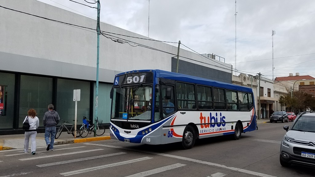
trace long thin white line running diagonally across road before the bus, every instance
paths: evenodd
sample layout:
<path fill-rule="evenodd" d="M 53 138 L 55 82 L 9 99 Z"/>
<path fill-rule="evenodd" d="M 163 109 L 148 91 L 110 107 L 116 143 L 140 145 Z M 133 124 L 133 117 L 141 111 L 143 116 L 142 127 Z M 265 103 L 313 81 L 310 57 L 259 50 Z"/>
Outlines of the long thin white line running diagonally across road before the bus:
<path fill-rule="evenodd" d="M 140 150 L 136 150 L 136 149 L 132 149 L 132 148 L 126 148 L 126 147 L 120 147 L 120 146 L 110 146 L 110 145 L 93 144 L 93 143 L 83 143 L 83 144 L 95 145 L 95 146 L 104 146 L 104 147 L 109 147 L 109 148 L 125 149 L 125 150 L 130 150 L 130 151 L 145 152 L 145 153 L 149 153 L 149 154 L 161 155 L 161 156 L 166 156 L 166 157 L 173 157 L 173 158 L 182 159 L 182 160 L 186 160 L 186 161 L 191 161 L 191 162 L 196 162 L 196 163 L 201 163 L 201 164 L 207 164 L 207 165 L 217 166 L 217 167 L 221 167 L 221 168 L 227 168 L 230 170 L 240 171 L 240 172 L 247 173 L 247 174 L 255 174 L 255 175 L 261 176 L 261 177 L 276 177 L 276 176 L 272 176 L 269 174 L 258 173 L 258 172 L 254 172 L 254 171 L 250 171 L 250 170 L 241 169 L 241 168 L 227 167 L 225 165 L 221 165 L 218 163 L 211 163 L 211 162 L 201 161 L 201 160 L 187 158 L 187 157 L 180 157 L 180 156 L 175 156 L 175 155 L 170 155 L 170 154 L 163 154 L 163 153 L 150 152 L 150 151 L 140 151 Z"/>

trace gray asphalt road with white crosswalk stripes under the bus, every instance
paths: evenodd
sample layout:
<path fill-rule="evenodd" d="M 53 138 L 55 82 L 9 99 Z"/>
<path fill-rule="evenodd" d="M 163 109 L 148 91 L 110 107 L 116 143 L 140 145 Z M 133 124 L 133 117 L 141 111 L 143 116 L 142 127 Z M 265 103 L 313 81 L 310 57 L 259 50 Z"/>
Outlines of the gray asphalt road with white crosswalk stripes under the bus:
<path fill-rule="evenodd" d="M 189 150 L 179 143 L 142 145 L 117 140 L 45 147 L 37 153 L 0 151 L 0 177 L 13 176 L 194 176 L 194 177 L 315 177 L 315 168 L 279 163 L 284 125 L 259 124 L 240 140 L 215 137 L 198 140 Z"/>

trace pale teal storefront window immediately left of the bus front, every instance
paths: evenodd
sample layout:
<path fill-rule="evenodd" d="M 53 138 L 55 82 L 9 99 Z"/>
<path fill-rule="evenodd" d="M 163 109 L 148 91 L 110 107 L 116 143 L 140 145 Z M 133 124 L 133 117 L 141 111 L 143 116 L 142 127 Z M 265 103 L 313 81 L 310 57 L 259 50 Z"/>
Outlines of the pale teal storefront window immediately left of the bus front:
<path fill-rule="evenodd" d="M 111 116 L 111 98 L 109 94 L 112 89 L 112 84 L 99 83 L 98 92 L 98 106 L 97 106 L 97 117 L 102 120 L 102 123 L 109 123 Z M 95 117 L 95 94 L 96 94 L 96 83 L 94 83 L 94 94 L 93 94 L 93 120 Z M 94 121 L 93 121 L 94 122 Z"/>

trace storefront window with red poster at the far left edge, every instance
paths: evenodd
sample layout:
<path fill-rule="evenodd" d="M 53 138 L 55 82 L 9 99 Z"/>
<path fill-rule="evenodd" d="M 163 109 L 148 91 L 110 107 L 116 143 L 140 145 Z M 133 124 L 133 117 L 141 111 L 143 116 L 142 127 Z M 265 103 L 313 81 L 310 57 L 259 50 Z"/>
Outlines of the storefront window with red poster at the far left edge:
<path fill-rule="evenodd" d="M 13 128 L 14 74 L 0 72 L 0 128 Z"/>

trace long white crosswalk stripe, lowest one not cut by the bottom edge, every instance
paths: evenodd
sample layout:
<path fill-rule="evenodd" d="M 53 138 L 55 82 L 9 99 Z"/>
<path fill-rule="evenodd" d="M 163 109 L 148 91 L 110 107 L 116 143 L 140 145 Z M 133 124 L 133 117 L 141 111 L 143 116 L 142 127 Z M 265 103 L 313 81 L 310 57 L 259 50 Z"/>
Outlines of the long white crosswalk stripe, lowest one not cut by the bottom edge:
<path fill-rule="evenodd" d="M 86 172 L 90 172 L 90 171 L 94 171 L 94 170 L 100 170 L 100 169 L 103 169 L 103 168 L 110 168 L 110 167 L 115 167 L 115 166 L 119 166 L 119 165 L 125 165 L 125 164 L 128 164 L 128 163 L 134 163 L 134 162 L 139 162 L 139 161 L 148 160 L 148 159 L 152 159 L 152 157 L 142 157 L 142 158 L 137 158 L 137 159 L 133 159 L 133 160 L 127 160 L 127 161 L 118 162 L 118 163 L 112 163 L 112 164 L 101 165 L 101 166 L 97 166 L 97 167 L 91 167 L 91 168 L 85 168 L 85 169 L 80 169 L 80 170 L 69 171 L 69 172 L 60 173 L 60 174 L 64 175 L 64 176 L 70 176 L 70 175 L 73 175 L 73 174 L 81 174 L 81 173 L 86 173 Z"/>

